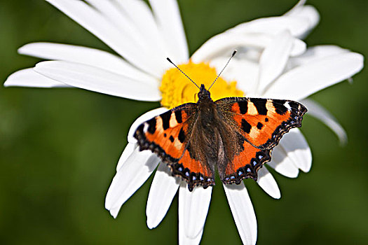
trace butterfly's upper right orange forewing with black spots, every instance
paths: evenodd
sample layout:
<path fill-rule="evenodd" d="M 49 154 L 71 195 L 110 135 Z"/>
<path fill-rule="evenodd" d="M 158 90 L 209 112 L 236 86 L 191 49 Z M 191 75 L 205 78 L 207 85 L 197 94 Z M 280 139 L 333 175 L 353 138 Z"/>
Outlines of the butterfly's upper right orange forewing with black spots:
<path fill-rule="evenodd" d="M 283 134 L 293 127 L 301 127 L 307 111 L 299 102 L 281 99 L 229 97 L 215 103 L 223 111 L 226 123 L 260 149 L 275 147 Z"/>

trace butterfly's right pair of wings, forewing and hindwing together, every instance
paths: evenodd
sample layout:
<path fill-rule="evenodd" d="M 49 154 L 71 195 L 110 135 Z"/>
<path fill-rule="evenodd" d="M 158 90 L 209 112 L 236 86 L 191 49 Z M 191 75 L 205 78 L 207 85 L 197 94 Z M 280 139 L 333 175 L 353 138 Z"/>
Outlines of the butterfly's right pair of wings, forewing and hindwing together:
<path fill-rule="evenodd" d="M 281 99 L 229 97 L 215 102 L 226 125 L 240 135 L 240 151 L 231 162 L 219 169 L 224 183 L 240 183 L 245 178 L 257 180 L 258 169 L 271 160 L 271 151 L 283 134 L 301 127 L 306 107 L 299 102 Z"/>

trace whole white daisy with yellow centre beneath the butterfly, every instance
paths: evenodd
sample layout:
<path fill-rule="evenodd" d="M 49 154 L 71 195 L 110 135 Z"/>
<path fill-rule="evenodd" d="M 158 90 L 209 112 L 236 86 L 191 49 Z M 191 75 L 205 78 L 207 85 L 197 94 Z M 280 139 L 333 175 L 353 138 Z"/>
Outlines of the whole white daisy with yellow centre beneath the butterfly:
<path fill-rule="evenodd" d="M 212 87 L 212 99 L 246 96 L 293 99 L 346 141 L 343 128 L 328 111 L 306 98 L 360 71 L 363 57 L 334 45 L 306 48 L 304 38 L 318 24 L 318 12 L 299 1 L 285 15 L 237 25 L 205 42 L 189 59 L 186 36 L 175 0 L 101 1 L 47 0 L 106 43 L 116 54 L 76 45 L 30 43 L 18 51 L 50 61 L 17 71 L 5 86 L 80 87 L 140 101 L 161 101 L 163 107 L 144 113 L 128 133 L 105 207 L 114 218 L 121 206 L 155 172 L 146 206 L 147 225 L 156 228 L 179 190 L 179 244 L 198 244 L 210 205 L 212 187 L 194 188 L 172 177 L 150 151 L 139 151 L 132 137 L 137 126 L 170 108 L 196 102 L 197 88 L 173 69 L 166 57 L 193 80 L 212 83 L 231 51 L 238 49 L 224 75 Z M 311 169 L 311 150 L 303 134 L 291 130 L 272 153 L 267 166 L 295 178 Z M 280 190 L 267 168 L 259 169 L 259 186 L 273 198 Z M 257 241 L 257 220 L 244 183 L 224 185 L 244 244 Z"/>

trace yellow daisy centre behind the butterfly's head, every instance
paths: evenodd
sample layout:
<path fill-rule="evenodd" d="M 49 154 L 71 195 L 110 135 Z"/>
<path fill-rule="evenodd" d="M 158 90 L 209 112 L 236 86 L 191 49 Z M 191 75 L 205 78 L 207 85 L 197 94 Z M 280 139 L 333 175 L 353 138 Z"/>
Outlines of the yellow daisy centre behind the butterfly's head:
<path fill-rule="evenodd" d="M 199 87 L 204 84 L 206 89 L 217 77 L 216 69 L 205 63 L 194 64 L 189 61 L 187 64 L 179 65 L 179 68 Z M 169 109 L 184 103 L 198 101 L 198 87 L 176 68 L 168 69 L 163 75 L 160 91 L 162 93 L 161 105 Z M 244 95 L 241 90 L 236 89 L 236 81 L 228 83 L 221 77 L 211 87 L 210 93 L 214 101 L 224 97 L 241 97 Z"/>

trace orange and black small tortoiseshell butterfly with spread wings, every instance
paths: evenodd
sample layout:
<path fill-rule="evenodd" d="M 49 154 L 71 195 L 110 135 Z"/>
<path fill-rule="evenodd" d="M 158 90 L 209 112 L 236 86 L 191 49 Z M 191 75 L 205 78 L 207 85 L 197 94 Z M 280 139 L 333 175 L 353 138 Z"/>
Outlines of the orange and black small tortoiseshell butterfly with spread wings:
<path fill-rule="evenodd" d="M 223 183 L 239 184 L 247 178 L 257 181 L 258 169 L 271 160 L 283 134 L 301 127 L 306 111 L 299 102 L 281 99 L 227 97 L 214 102 L 202 84 L 197 103 L 142 123 L 134 137 L 140 151 L 156 153 L 190 191 L 214 186 L 215 169 Z"/>

